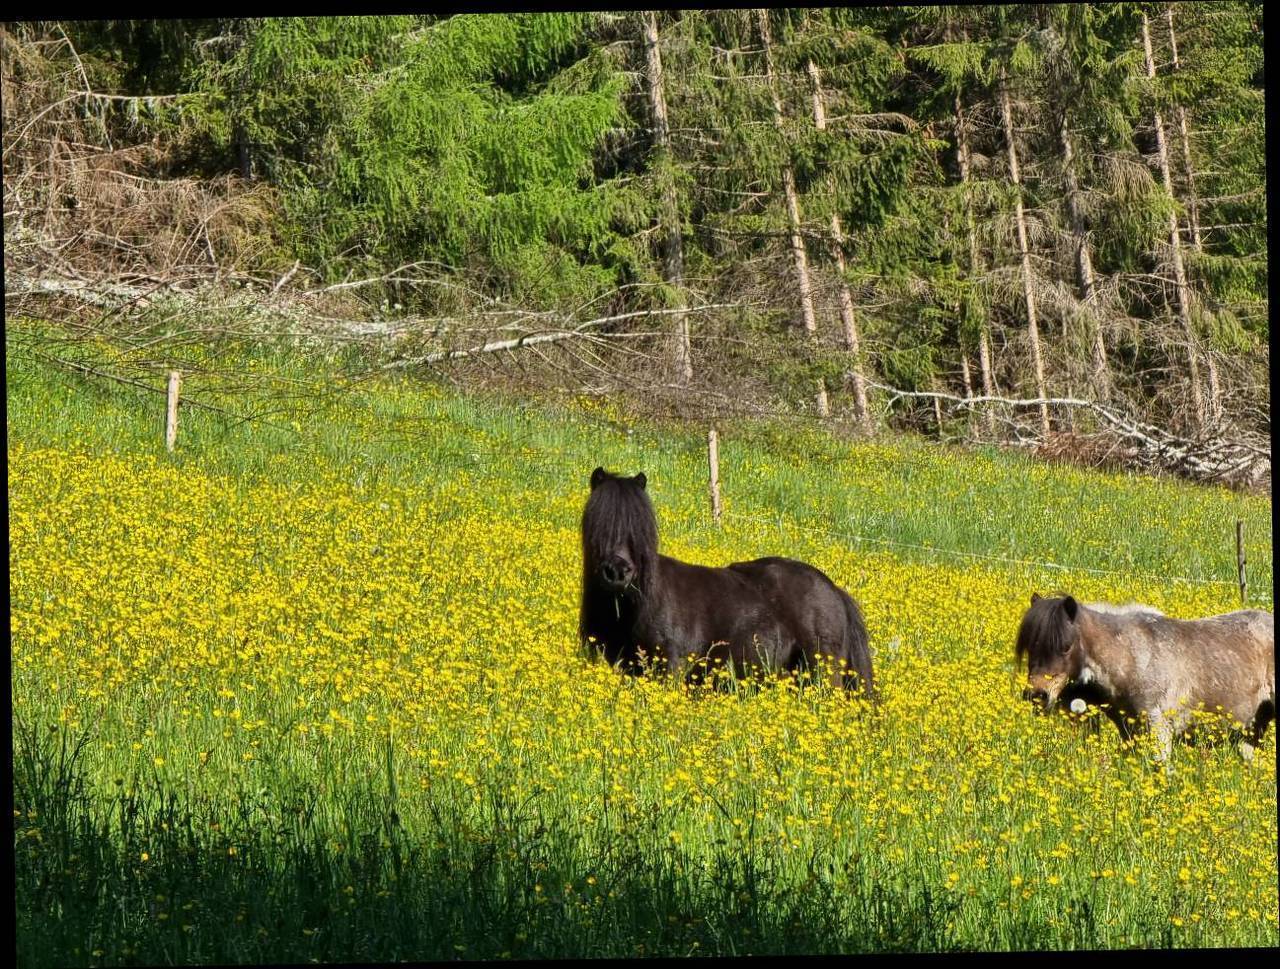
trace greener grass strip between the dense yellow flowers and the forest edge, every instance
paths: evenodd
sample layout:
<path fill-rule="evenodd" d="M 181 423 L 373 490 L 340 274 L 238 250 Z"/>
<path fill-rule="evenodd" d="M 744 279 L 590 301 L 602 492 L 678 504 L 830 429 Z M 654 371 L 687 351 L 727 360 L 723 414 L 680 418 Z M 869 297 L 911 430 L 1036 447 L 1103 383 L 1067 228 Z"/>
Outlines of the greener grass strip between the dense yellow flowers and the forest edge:
<path fill-rule="evenodd" d="M 14 351 L 6 369 L 10 435 L 31 444 L 73 439 L 92 451 L 163 453 L 163 396 L 59 372 Z M 204 356 L 200 348 L 189 352 Z M 335 384 L 333 371 L 317 374 L 288 351 L 244 358 L 264 374 L 256 393 L 273 416 L 237 425 L 183 411 L 179 467 L 193 462 L 252 480 L 306 479 L 311 467 L 329 466 L 360 485 L 429 484 L 465 472 L 502 490 L 581 494 L 591 468 L 603 465 L 646 472 L 667 530 L 699 529 L 709 517 L 704 428 L 648 426 L 612 408 L 416 394 L 406 376 Z M 163 388 L 160 379 L 154 384 Z M 278 396 L 300 385 L 317 396 L 303 394 L 291 413 Z M 188 378 L 187 387 L 204 389 L 198 378 Z M 387 393 L 388 387 L 402 390 Z M 202 397 L 237 413 L 262 410 L 253 394 Z M 282 406 L 287 410 L 274 413 Z M 1253 549 L 1251 586 L 1258 602 L 1271 600 L 1271 503 L 1222 486 L 1097 474 L 1018 452 L 955 451 L 911 438 L 850 447 L 782 421 L 721 428 L 721 483 L 731 517 L 778 521 L 870 550 L 891 548 L 906 559 L 1005 557 L 1221 582 L 1235 581 L 1235 521 L 1243 518 Z"/>

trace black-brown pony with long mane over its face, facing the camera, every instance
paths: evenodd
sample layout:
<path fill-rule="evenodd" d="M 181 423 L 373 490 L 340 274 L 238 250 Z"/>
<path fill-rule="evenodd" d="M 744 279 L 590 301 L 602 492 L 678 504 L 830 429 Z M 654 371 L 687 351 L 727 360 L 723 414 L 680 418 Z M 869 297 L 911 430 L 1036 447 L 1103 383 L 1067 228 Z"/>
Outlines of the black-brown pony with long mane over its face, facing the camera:
<path fill-rule="evenodd" d="M 844 590 L 790 558 L 708 568 L 658 554 L 643 472 L 591 472 L 579 634 L 626 672 L 655 664 L 690 681 L 717 666 L 812 669 L 820 654 L 835 685 L 874 695 L 867 627 Z"/>

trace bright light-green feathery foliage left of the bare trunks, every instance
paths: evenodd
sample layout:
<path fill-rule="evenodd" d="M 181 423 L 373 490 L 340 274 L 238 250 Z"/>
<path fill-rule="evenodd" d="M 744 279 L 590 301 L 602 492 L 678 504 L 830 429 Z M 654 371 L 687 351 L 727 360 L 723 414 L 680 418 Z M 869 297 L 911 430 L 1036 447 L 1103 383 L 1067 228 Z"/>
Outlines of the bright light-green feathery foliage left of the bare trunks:
<path fill-rule="evenodd" d="M 618 191 L 593 184 L 622 78 L 585 14 L 264 20 L 210 65 L 211 136 L 253 145 L 294 244 L 342 275 L 479 269 L 500 294 L 617 282 Z M 563 77 L 561 77 L 563 74 Z M 545 292 L 536 280 L 545 275 Z"/>

